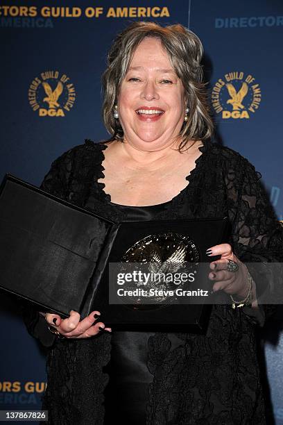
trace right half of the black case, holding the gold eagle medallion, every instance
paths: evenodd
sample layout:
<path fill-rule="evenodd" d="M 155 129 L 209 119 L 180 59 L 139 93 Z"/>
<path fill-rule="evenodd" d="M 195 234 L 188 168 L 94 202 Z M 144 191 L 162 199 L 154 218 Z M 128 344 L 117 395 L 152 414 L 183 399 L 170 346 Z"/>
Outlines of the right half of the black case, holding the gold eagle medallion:
<path fill-rule="evenodd" d="M 115 294 L 117 279 L 115 273 L 111 276 L 111 270 L 119 274 L 135 270 L 149 274 L 193 274 L 200 265 L 196 274 L 197 286 L 201 285 L 203 292 L 210 295 L 213 283 L 208 279 L 209 258 L 205 251 L 227 242 L 228 231 L 227 219 L 122 222 L 112 244 L 103 283 L 99 285 L 88 310 L 100 311 L 100 319 L 114 329 L 204 332 L 211 309 L 207 299 L 205 303 L 201 297 L 197 302 L 187 297 L 176 300 L 168 295 L 170 290 L 175 290 L 174 283 L 160 283 L 152 279 L 146 283 L 147 291 L 153 292 L 150 299 L 145 300 L 137 294 L 137 297 L 121 300 Z M 112 269 L 111 265 L 114 266 Z M 123 288 L 125 286 L 130 292 L 137 291 L 138 286 L 145 288 L 144 283 L 139 281 L 124 283 Z M 191 288 L 191 285 L 178 285 L 179 292 L 183 288 Z"/>

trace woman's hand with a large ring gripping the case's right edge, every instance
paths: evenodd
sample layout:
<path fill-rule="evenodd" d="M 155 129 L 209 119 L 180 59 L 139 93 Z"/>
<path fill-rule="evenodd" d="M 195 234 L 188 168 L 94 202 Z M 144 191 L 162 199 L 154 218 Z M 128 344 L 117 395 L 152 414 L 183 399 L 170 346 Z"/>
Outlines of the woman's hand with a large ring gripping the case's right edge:
<path fill-rule="evenodd" d="M 207 256 L 221 255 L 219 260 L 210 263 L 211 272 L 209 272 L 209 279 L 214 281 L 212 290 L 223 290 L 228 294 L 237 294 L 241 298 L 245 298 L 248 293 L 248 271 L 243 263 L 234 255 L 230 244 L 215 245 L 207 249 Z M 232 260 L 239 266 L 237 272 L 229 272 L 228 260 Z"/>

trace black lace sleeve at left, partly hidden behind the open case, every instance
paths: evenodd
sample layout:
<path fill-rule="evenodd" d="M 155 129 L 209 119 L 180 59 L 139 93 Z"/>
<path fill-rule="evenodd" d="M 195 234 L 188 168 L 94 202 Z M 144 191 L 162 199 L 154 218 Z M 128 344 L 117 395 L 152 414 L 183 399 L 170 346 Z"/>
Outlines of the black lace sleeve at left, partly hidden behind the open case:
<path fill-rule="evenodd" d="M 51 165 L 51 169 L 44 177 L 40 189 L 49 192 L 61 199 L 68 200 L 69 179 L 72 172 L 74 149 L 71 149 L 57 158 Z M 21 313 L 26 324 L 28 333 L 40 340 L 45 347 L 51 347 L 55 336 L 49 331 L 46 320 L 39 313 L 39 308 L 31 303 L 22 302 Z"/>

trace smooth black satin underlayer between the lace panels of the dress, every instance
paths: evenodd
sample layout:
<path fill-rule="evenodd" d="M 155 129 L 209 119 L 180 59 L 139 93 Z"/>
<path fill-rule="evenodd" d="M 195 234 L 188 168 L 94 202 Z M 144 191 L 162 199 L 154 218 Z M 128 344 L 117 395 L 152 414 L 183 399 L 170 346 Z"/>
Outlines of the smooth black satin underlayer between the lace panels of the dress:
<path fill-rule="evenodd" d="M 128 221 L 152 220 L 166 210 L 171 201 L 153 206 L 119 206 Z M 114 205 L 114 204 L 112 204 Z M 117 204 L 115 204 L 117 205 Z M 118 206 L 118 205 L 117 205 Z M 115 421 L 128 424 L 146 424 L 146 400 L 152 374 L 147 367 L 148 338 L 152 332 L 116 331 L 111 338 L 110 363 L 105 372 L 110 380 L 105 389 L 105 425 Z M 168 334 L 170 338 L 170 335 Z"/>

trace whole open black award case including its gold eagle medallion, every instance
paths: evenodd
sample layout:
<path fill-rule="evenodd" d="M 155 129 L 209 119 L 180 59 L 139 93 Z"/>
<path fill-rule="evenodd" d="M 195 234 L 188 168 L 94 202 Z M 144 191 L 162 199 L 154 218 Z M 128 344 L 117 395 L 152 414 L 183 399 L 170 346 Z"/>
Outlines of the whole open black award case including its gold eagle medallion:
<path fill-rule="evenodd" d="M 227 241 L 227 218 L 117 223 L 14 176 L 1 185 L 0 288 L 62 317 L 98 310 L 113 329 L 203 332 L 211 306 L 176 297 L 191 283 L 168 276 L 195 274 L 210 292 L 205 251 Z"/>

